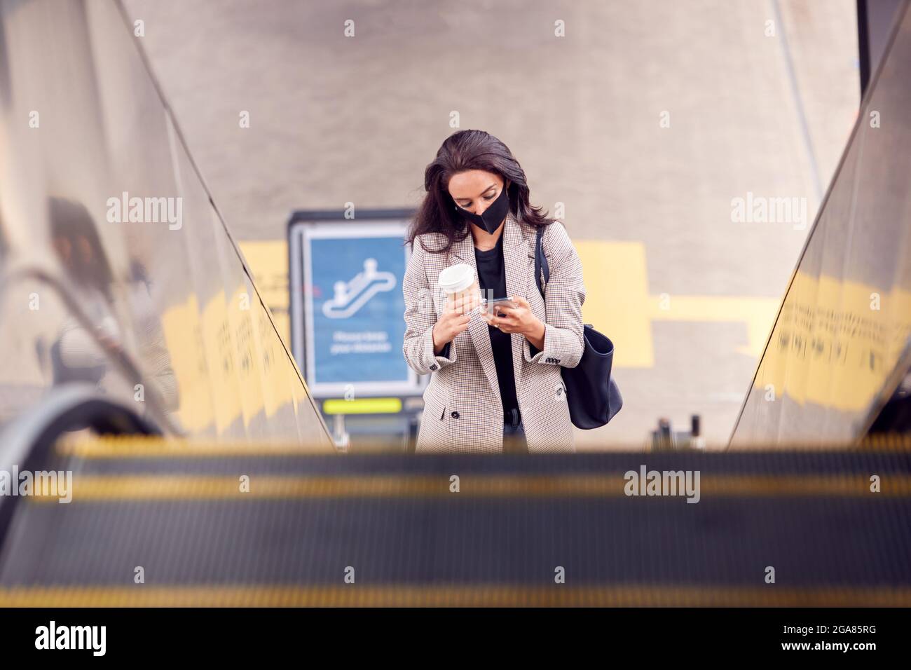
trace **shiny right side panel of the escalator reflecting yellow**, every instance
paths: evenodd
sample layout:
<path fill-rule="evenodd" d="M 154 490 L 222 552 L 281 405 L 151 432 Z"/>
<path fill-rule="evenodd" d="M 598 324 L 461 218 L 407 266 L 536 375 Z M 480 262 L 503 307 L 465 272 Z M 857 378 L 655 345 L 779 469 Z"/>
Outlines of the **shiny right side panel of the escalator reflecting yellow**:
<path fill-rule="evenodd" d="M 895 383 L 911 336 L 909 67 L 905 11 L 793 274 L 734 448 L 861 438 Z"/>

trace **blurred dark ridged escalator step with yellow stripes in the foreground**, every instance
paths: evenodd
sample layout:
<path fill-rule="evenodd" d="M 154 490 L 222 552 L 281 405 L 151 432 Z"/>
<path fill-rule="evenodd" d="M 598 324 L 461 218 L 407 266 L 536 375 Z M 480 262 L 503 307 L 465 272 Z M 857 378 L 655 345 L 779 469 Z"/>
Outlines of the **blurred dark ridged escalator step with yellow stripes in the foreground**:
<path fill-rule="evenodd" d="M 15 499 L 0 606 L 911 606 L 903 442 L 321 457 L 117 438 L 51 460 L 72 501 Z"/>

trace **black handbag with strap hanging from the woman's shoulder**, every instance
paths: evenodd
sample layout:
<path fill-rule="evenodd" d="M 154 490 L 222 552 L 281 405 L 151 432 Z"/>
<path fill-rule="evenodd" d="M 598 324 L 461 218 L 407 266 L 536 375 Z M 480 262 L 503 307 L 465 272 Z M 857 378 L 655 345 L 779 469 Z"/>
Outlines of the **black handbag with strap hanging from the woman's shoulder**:
<path fill-rule="evenodd" d="M 537 290 L 544 297 L 545 287 L 550 280 L 548 257 L 541 246 L 544 226 L 537 227 L 535 242 L 535 277 Z M 545 300 L 545 302 L 547 302 Z M 623 407 L 620 389 L 610 376 L 614 361 L 614 343 L 601 335 L 591 324 L 583 324 L 585 349 L 576 367 L 560 370 L 567 387 L 569 417 L 576 428 L 599 428 Z"/>

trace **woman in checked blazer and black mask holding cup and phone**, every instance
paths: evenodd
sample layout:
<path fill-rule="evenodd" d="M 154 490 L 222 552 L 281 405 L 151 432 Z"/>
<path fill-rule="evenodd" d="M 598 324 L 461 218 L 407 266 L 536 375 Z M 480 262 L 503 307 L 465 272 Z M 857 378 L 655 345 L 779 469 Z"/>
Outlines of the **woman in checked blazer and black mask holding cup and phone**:
<path fill-rule="evenodd" d="M 586 292 L 566 228 L 529 204 L 525 172 L 483 130 L 447 138 L 424 184 L 403 286 L 404 357 L 431 375 L 415 451 L 575 451 L 560 368 L 582 356 Z"/>

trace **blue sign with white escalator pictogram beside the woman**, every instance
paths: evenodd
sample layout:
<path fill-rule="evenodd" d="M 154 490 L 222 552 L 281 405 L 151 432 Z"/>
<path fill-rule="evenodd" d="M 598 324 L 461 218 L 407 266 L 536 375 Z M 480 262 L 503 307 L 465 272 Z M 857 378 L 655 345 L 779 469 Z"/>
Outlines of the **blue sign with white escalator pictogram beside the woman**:
<path fill-rule="evenodd" d="M 419 393 L 402 355 L 405 222 L 305 222 L 297 228 L 292 330 L 300 336 L 293 348 L 314 397 Z M 301 309 L 294 309 L 295 301 Z"/>

